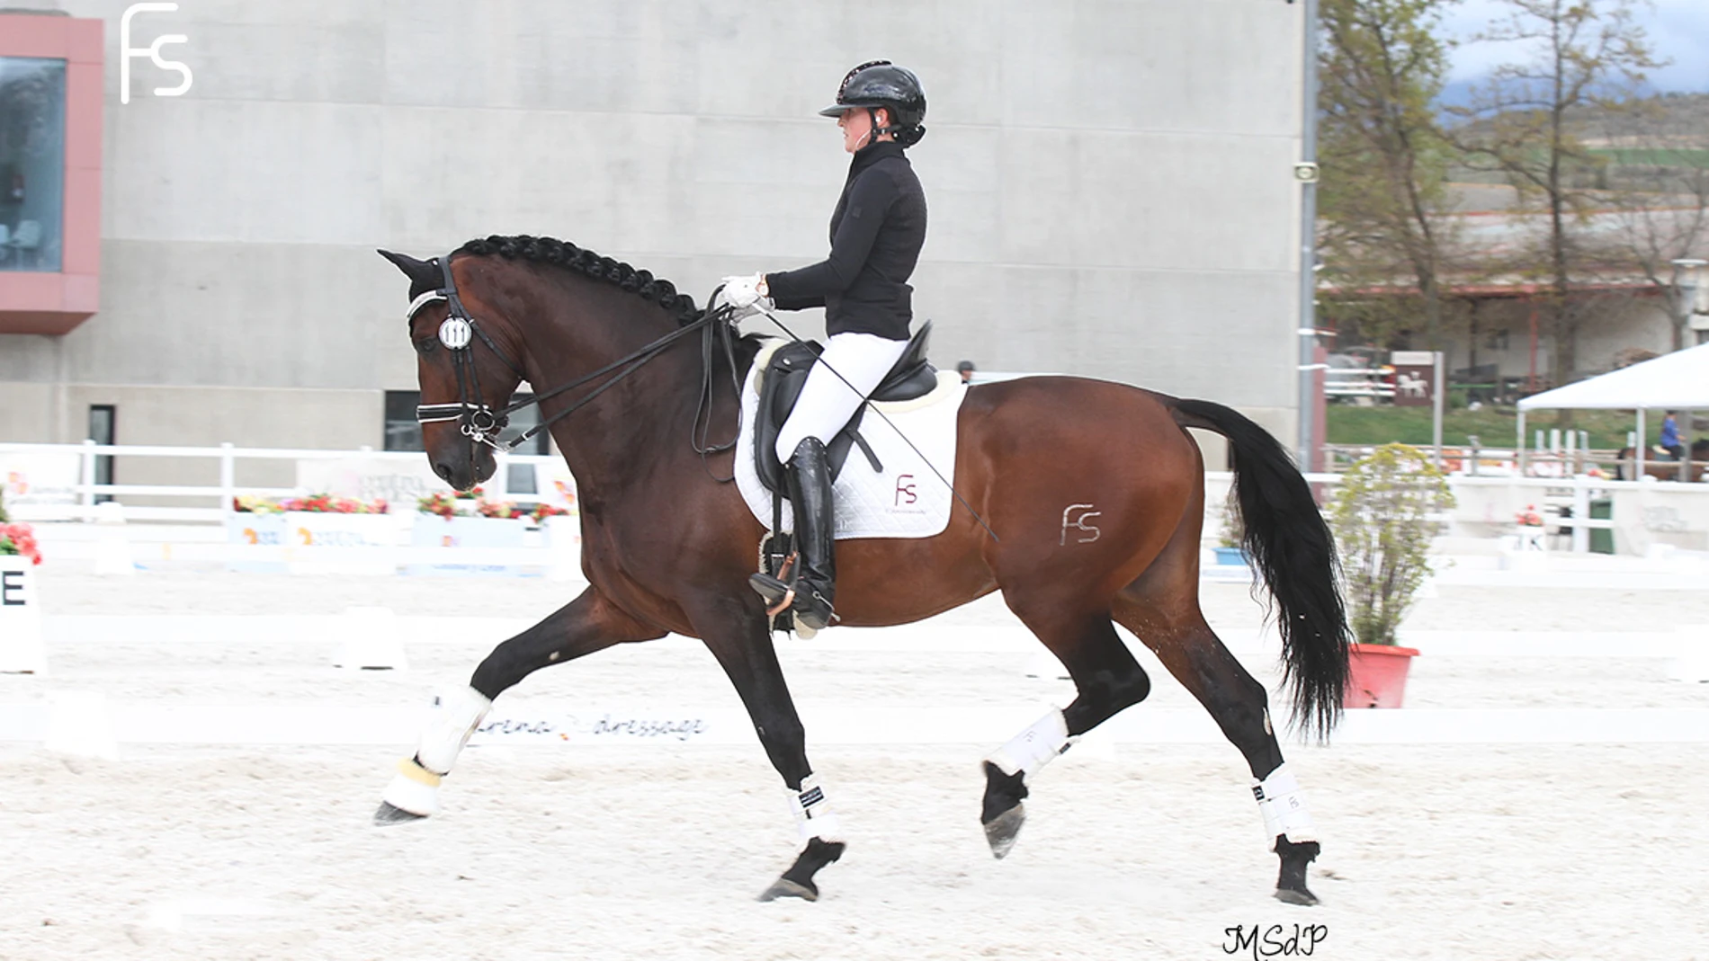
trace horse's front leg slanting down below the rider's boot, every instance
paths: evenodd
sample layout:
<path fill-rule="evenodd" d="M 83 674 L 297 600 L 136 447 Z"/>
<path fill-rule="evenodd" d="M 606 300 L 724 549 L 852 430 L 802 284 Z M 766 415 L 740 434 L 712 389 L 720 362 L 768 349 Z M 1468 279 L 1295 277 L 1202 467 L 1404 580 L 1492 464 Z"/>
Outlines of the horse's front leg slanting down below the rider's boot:
<path fill-rule="evenodd" d="M 708 650 L 742 696 L 766 756 L 783 775 L 786 802 L 795 818 L 796 843 L 802 845 L 795 864 L 759 900 L 817 901 L 819 884 L 813 882 L 813 874 L 843 857 L 843 833 L 825 797 L 825 787 L 807 763 L 807 732 L 802 729 L 800 715 L 795 713 L 790 684 L 783 679 L 766 611 L 752 597 L 718 597 L 708 601 L 704 609 L 690 611 L 690 618 Z"/>

